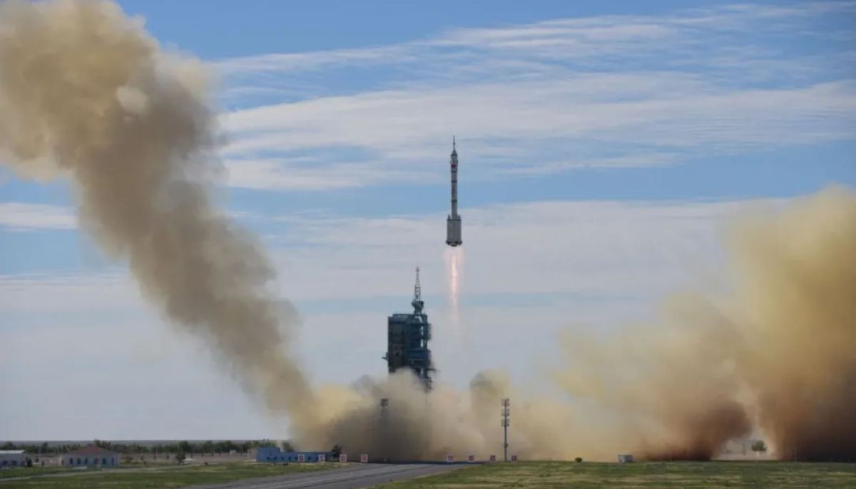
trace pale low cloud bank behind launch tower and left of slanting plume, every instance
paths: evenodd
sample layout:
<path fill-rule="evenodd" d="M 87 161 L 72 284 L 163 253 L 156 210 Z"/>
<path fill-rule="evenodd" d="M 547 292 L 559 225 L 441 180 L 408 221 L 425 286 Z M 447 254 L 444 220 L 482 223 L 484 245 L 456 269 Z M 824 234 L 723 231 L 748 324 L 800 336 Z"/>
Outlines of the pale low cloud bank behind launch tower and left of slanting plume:
<path fill-rule="evenodd" d="M 445 372 L 450 383 L 460 385 L 480 369 L 513 362 L 513 374 L 531 383 L 537 378 L 530 370 L 537 368 L 530 365 L 532 358 L 544 357 L 562 327 L 638 321 L 652 313 L 661 294 L 690 282 L 699 270 L 710 276 L 721 272 L 719 231 L 746 204 L 556 201 L 467 209 L 457 327 L 450 324 L 443 299 L 443 215 L 252 218 L 266 221 L 279 272 L 276 287 L 296 301 L 303 319 L 294 351 L 315 379 L 341 384 L 354 380 L 355 373 L 385 374 L 378 353 L 385 316 L 407 310 L 413 268 L 420 265 L 440 375 Z M 69 402 L 91 398 L 97 395 L 93 380 L 146 409 L 152 392 L 178 404 L 244 402 L 237 386 L 224 383 L 217 359 L 194 339 L 169 331 L 128 274 L 0 275 L 0 310 L 0 366 L 21 375 L 38 373 L 33 378 L 41 383 L 33 390 L 13 382 L 14 396 L 0 397 L 4 419 L 12 420 L 0 424 L 0 433 L 19 433 L 15 421 L 32 416 L 30 406 L 47 414 L 45 406 L 56 403 L 39 402 L 41 392 Z M 478 345 L 464 343 L 467 335 L 479 339 Z M 515 347 L 501 364 L 496 351 L 507 351 L 508 345 Z M 342 352 L 336 362 L 329 361 L 330 351 Z M 40 361 L 46 357 L 50 365 Z M 81 368 L 86 375 L 51 374 Z M 174 390 L 165 392 L 164 382 Z M 122 431 L 128 429 L 127 415 L 115 415 L 124 413 L 124 404 L 108 408 L 93 418 L 97 421 L 74 425 L 77 434 L 69 436 L 113 427 L 128 437 Z M 233 409 L 263 416 L 252 406 Z M 63 419 L 61 414 L 45 419 Z M 203 415 L 209 425 L 222 417 Z M 151 431 L 175 422 L 164 418 L 145 426 Z M 199 437 L 205 436 L 199 429 Z"/>

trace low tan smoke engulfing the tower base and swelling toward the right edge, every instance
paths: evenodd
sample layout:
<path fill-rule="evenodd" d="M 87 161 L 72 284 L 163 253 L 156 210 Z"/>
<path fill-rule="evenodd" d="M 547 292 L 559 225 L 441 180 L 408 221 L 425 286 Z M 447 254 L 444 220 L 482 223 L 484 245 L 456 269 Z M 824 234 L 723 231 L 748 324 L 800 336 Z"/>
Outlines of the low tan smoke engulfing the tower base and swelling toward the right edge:
<path fill-rule="evenodd" d="M 569 328 L 553 372 L 568 398 L 533 398 L 496 372 L 430 395 L 395 375 L 319 397 L 337 410 L 306 441 L 484 457 L 502 447 L 499 400 L 510 397 L 511 445 L 525 457 L 709 460 L 760 436 L 775 457 L 856 460 L 856 194 L 750 209 L 727 244 L 728 291 L 675 294 L 660 321 L 617 334 Z"/>

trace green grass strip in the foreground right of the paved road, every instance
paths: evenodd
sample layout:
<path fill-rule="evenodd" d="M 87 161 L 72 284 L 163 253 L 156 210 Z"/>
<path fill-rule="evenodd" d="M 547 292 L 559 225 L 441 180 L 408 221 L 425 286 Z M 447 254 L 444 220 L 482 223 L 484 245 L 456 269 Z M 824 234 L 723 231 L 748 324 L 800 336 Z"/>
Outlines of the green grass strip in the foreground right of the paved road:
<path fill-rule="evenodd" d="M 802 462 L 516 462 L 461 468 L 380 486 L 431 487 L 856 487 L 854 463 Z"/>

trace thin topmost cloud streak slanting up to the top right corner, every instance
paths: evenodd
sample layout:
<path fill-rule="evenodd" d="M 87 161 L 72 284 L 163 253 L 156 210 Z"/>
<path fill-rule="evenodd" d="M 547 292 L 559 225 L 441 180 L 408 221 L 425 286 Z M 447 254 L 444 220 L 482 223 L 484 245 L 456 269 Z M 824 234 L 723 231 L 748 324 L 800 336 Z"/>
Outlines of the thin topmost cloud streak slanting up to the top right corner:
<path fill-rule="evenodd" d="M 802 34 L 829 36 L 835 33 L 853 38 L 856 34 L 840 26 L 835 32 L 819 28 L 828 27 L 824 23 L 829 24 L 830 19 L 824 16 L 853 14 L 856 14 L 853 2 L 805 2 L 785 6 L 733 4 L 677 10 L 671 15 L 600 15 L 502 27 L 460 27 L 402 44 L 243 56 L 217 61 L 214 66 L 227 77 L 243 77 L 253 73 L 292 75 L 354 65 L 361 68 L 396 65 L 407 70 L 424 67 L 419 73 L 442 78 L 449 73 L 466 72 L 467 64 L 479 63 L 485 58 L 489 61 L 509 57 L 517 61 L 549 58 L 550 62 L 579 62 L 592 58 L 599 67 L 619 60 L 633 62 L 635 66 L 650 62 L 669 65 L 682 60 L 657 59 L 658 56 L 671 51 L 682 58 L 688 54 L 682 47 L 696 49 L 705 45 L 705 50 L 696 53 L 704 56 L 698 56 L 696 62 L 712 66 L 716 65 L 716 57 L 710 56 L 712 52 L 735 47 L 745 49 L 747 56 L 764 54 L 776 59 L 778 56 L 771 50 L 758 50 L 769 46 L 759 37 L 770 32 L 793 32 L 799 28 Z M 819 23 L 807 24 L 806 20 Z M 716 43 L 711 44 L 711 41 Z M 497 56 L 493 56 L 493 51 Z M 611 57 L 603 59 L 604 56 Z M 437 65 L 438 62 L 445 64 Z M 787 63 L 782 66 L 786 68 Z"/>

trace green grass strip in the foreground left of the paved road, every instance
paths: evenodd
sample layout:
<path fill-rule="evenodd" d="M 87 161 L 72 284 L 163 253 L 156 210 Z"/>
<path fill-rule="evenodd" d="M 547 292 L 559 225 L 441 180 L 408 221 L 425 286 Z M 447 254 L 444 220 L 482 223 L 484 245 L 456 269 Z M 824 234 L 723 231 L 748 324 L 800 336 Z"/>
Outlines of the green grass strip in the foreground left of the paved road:
<path fill-rule="evenodd" d="M 306 465 L 296 463 L 290 465 L 220 463 L 207 466 L 164 467 L 140 471 L 120 469 L 115 472 L 87 472 L 56 477 L 34 477 L 27 480 L 0 480 L 0 489 L 162 489 L 313 472 L 340 466 L 339 463 L 307 463 Z"/>

